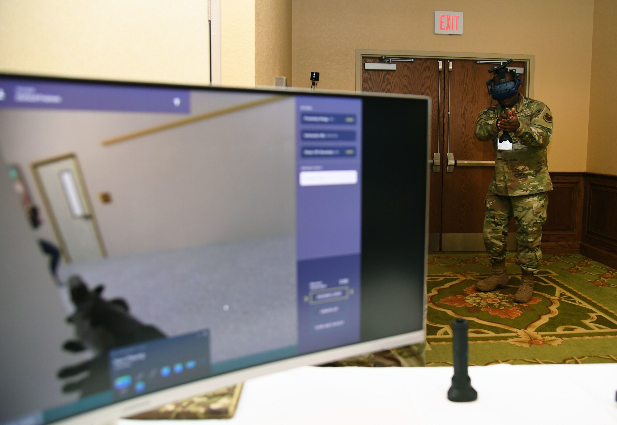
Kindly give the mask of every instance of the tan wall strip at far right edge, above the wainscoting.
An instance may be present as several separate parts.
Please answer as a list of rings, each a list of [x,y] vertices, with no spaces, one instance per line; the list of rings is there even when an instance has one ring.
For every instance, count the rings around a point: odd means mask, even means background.
[[[617,142],[614,126],[611,125],[615,122],[613,110],[617,98],[615,17],[615,0],[595,0],[587,171],[610,175],[617,175]]]

